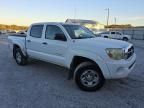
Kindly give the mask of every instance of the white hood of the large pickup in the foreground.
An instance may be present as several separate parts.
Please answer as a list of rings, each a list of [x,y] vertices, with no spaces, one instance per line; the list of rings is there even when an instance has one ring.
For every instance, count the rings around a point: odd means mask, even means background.
[[[128,42],[114,40],[114,39],[106,39],[101,37],[89,38],[89,39],[77,39],[75,40],[76,46],[87,47],[89,49],[93,48],[127,48],[132,45]]]

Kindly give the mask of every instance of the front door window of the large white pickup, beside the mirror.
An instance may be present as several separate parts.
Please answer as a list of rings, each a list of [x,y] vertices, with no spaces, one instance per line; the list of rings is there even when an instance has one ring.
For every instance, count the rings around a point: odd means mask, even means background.
[[[56,34],[64,34],[61,28],[56,25],[48,25],[46,28],[45,38],[55,40]]]

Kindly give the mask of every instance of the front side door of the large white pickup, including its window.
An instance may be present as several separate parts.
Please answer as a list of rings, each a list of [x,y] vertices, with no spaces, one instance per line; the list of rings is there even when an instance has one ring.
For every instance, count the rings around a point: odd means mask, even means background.
[[[43,53],[46,54],[47,61],[64,66],[68,44],[67,41],[55,40],[56,34],[64,34],[64,32],[57,25],[46,26]]]

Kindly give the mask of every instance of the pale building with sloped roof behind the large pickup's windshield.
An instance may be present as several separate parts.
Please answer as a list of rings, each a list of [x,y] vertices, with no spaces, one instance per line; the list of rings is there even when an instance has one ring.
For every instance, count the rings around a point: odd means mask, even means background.
[[[67,19],[66,23],[76,23],[89,28],[95,34],[104,31],[105,25],[93,20]]]

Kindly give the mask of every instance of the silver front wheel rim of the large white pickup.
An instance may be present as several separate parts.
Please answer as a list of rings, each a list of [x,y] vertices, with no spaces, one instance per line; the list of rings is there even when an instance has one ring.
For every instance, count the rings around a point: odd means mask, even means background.
[[[86,70],[82,73],[81,82],[86,87],[94,87],[99,82],[99,75],[95,70]]]

